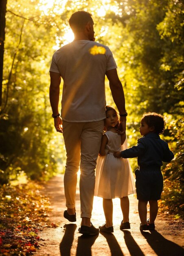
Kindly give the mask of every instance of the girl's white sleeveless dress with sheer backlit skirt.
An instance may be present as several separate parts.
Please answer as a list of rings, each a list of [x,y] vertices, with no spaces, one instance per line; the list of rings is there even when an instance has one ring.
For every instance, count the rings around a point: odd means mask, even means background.
[[[127,149],[127,138],[121,146],[121,137],[118,133],[107,131],[105,135],[109,141],[105,148],[105,156],[97,158],[94,195],[112,199],[136,193],[129,160],[113,155],[114,151]]]

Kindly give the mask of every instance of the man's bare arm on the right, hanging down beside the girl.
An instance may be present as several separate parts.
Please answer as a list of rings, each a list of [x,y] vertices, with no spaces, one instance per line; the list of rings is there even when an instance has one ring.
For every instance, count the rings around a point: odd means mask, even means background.
[[[116,107],[120,114],[125,114],[125,95],[123,91],[123,86],[121,81],[119,80],[117,70],[112,69],[106,72],[106,76],[109,80],[110,90],[112,93],[112,97]],[[120,117],[120,124],[121,124],[121,133],[126,131],[126,117]]]

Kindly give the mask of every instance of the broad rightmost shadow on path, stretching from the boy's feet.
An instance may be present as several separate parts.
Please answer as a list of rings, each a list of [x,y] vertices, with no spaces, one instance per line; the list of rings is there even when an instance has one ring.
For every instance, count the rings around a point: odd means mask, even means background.
[[[154,252],[159,256],[183,256],[184,249],[179,245],[167,240],[156,230],[144,232],[141,234],[146,238],[147,243],[151,246]]]

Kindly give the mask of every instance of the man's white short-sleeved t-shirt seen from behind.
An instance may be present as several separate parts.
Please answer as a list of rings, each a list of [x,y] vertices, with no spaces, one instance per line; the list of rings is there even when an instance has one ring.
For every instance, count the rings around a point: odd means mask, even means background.
[[[51,72],[64,80],[61,117],[68,122],[105,118],[105,73],[117,68],[109,47],[78,40],[53,54]]]

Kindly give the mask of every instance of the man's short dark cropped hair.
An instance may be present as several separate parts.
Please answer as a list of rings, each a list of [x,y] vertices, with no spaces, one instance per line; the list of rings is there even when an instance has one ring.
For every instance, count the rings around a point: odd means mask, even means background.
[[[69,19],[72,31],[79,31],[85,27],[88,22],[93,22],[92,14],[88,11],[76,11]]]

